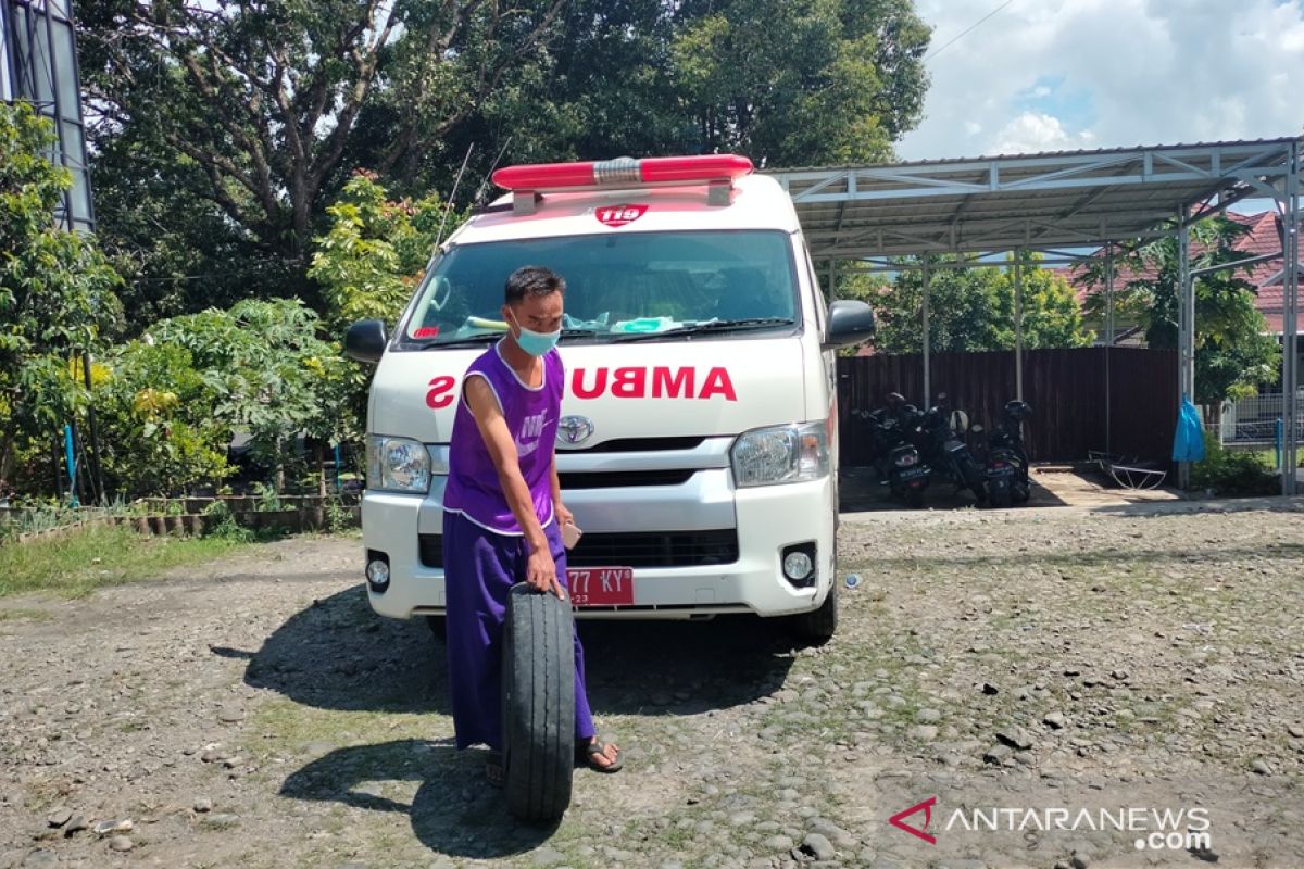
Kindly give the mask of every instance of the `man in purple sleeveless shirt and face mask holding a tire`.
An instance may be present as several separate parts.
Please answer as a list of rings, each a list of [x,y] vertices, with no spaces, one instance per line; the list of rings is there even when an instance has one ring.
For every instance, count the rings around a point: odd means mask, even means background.
[[[443,498],[449,685],[458,748],[489,745],[485,775],[502,784],[502,628],[507,591],[520,581],[566,599],[562,504],[554,443],[565,375],[561,336],[566,281],[526,266],[507,278],[507,335],[462,382]],[[575,636],[576,756],[604,773],[619,749],[593,731],[584,650]]]

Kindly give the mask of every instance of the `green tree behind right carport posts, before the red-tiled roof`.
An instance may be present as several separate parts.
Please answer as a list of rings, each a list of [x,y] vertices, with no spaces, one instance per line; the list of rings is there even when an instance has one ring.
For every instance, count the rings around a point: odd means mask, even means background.
[[[1267,323],[1254,307],[1254,287],[1244,275],[1249,266],[1235,267],[1249,254],[1234,248],[1247,227],[1226,218],[1208,218],[1191,225],[1191,268],[1228,266],[1194,280],[1196,294],[1196,395],[1197,404],[1219,405],[1258,392],[1260,384],[1275,383],[1281,348],[1267,335]],[[1178,272],[1180,257],[1174,233],[1124,250],[1115,262],[1136,278],[1115,291],[1119,315],[1133,318],[1145,330],[1149,347],[1178,348]],[[1102,287],[1104,263],[1084,270],[1080,283]],[[1088,297],[1090,310],[1102,314],[1104,293]]]

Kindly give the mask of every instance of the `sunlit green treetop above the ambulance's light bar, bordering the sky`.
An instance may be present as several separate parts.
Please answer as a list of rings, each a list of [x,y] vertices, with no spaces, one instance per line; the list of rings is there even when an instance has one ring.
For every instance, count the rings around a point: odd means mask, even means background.
[[[769,165],[885,162],[919,119],[928,27],[909,1],[686,3],[675,91],[704,150]]]

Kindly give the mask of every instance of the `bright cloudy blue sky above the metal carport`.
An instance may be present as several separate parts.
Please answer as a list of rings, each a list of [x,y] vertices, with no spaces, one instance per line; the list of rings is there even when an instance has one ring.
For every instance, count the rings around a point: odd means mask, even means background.
[[[1304,132],[1304,0],[915,0],[915,9],[934,27],[931,86],[923,120],[897,143],[904,160]]]

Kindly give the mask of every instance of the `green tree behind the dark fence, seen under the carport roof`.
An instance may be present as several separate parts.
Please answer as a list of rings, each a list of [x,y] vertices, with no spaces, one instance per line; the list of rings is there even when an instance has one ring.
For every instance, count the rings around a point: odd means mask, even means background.
[[[1073,287],[1041,268],[1041,257],[1025,254],[1022,274],[1024,347],[1085,347],[1093,340],[1082,326]],[[957,262],[935,258],[935,264]],[[1008,350],[1015,331],[1013,255],[999,264],[973,261],[968,268],[934,268],[928,274],[928,345],[934,352]],[[844,291],[838,291],[842,294]],[[863,293],[862,293],[863,296]],[[923,272],[897,274],[880,284],[872,300],[879,317],[874,345],[880,353],[918,353],[923,348]]]

